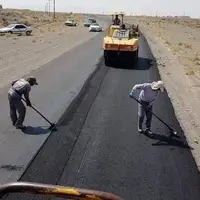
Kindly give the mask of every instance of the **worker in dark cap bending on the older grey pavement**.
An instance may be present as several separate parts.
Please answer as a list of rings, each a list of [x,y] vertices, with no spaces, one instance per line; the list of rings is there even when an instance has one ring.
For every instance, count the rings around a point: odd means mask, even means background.
[[[22,95],[24,95],[27,106],[31,106],[31,101],[29,99],[29,92],[31,91],[31,86],[38,85],[34,77],[29,77],[27,79],[19,79],[12,82],[12,87],[8,91],[8,100],[10,105],[10,118],[13,125],[17,129],[23,129],[23,125],[26,107],[22,102]],[[17,117],[18,112],[18,117]]]

